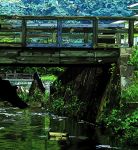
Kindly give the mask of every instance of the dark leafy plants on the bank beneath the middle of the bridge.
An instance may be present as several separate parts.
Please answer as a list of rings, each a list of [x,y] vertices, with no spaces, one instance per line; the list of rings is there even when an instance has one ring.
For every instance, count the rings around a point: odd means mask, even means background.
[[[50,95],[49,111],[70,117],[81,118],[85,109],[84,102],[80,101],[73,90],[72,84],[62,86],[60,81],[54,82],[54,93]]]

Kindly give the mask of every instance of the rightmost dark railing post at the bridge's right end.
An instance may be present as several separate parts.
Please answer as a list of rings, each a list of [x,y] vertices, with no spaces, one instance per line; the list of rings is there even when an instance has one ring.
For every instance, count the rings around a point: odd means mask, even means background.
[[[134,20],[129,20],[129,28],[128,28],[128,44],[129,47],[134,45]]]

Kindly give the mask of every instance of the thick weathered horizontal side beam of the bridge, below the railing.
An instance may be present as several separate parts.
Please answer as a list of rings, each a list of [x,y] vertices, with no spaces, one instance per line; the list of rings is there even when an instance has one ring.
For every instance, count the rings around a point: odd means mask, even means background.
[[[0,64],[101,64],[116,62],[120,56],[119,48],[1,48]]]

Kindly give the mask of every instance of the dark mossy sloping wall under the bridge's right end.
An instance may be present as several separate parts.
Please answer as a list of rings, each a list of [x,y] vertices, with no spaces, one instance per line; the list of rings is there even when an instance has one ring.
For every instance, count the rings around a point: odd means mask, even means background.
[[[120,107],[121,85],[120,85],[120,69],[119,63],[116,63],[111,68],[111,77],[106,85],[102,95],[96,121],[100,119],[103,113],[109,114],[114,108]]]

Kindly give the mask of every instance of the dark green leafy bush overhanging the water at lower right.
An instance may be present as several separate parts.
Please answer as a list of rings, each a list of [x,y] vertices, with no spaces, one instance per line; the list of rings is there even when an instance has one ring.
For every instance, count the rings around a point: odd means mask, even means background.
[[[111,113],[101,116],[102,123],[111,128],[113,134],[119,137],[122,144],[138,144],[138,109],[132,113],[127,113],[125,106],[120,109],[113,109]]]

